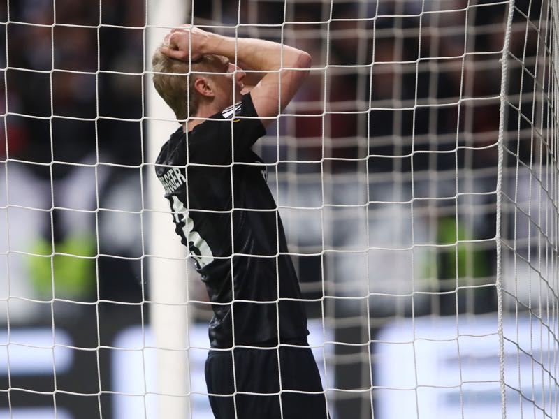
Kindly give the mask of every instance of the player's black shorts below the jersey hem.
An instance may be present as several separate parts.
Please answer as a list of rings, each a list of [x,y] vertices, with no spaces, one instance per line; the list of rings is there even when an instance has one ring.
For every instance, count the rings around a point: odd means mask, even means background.
[[[235,348],[235,385],[231,351],[210,351],[205,381],[216,419],[328,419],[326,397],[317,363],[307,339],[285,341],[280,346],[282,393],[279,393],[277,349]],[[291,390],[291,391],[290,391]],[[301,392],[293,392],[293,390]],[[259,393],[258,395],[238,392]],[[307,392],[307,393],[303,393]],[[308,392],[318,392],[316,394]],[[224,396],[218,396],[224,395]],[[280,406],[281,398],[281,406]],[[235,415],[236,411],[236,415]]]

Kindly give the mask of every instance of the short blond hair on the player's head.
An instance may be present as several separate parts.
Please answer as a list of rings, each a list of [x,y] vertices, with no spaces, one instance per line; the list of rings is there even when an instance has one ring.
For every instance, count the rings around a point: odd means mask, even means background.
[[[179,121],[196,115],[201,98],[194,88],[197,78],[193,73],[190,75],[187,73],[189,71],[210,71],[217,66],[217,61],[221,60],[216,55],[203,55],[190,66],[189,62],[166,56],[161,52],[161,47],[154,52],[152,67],[156,74],[153,75],[153,84],[159,96],[175,112]]]

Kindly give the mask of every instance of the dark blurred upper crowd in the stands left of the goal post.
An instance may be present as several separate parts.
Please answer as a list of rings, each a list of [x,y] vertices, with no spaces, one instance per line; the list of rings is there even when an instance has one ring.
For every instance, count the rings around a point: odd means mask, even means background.
[[[4,3],[3,22],[6,12]],[[57,26],[52,27],[55,15]],[[98,30],[99,22],[138,29]],[[10,24],[3,31],[8,54],[2,54],[4,65],[8,57],[10,66],[8,108],[10,114],[31,116],[8,117],[10,158],[80,163],[99,152],[106,155],[103,161],[138,165],[137,124],[110,118],[142,117],[138,74],[143,71],[144,24],[142,2],[137,0],[10,2]],[[52,132],[44,119],[51,115],[56,115]],[[57,164],[53,174],[61,177],[68,170]]]

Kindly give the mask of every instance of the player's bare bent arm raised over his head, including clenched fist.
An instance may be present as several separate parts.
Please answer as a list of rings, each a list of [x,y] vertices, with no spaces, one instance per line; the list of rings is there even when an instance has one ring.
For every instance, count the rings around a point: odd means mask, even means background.
[[[266,126],[295,96],[309,74],[311,57],[288,45],[250,38],[230,38],[185,25],[166,37],[162,52],[175,59],[194,61],[202,54],[217,54],[247,70],[266,73],[252,89],[252,102]]]

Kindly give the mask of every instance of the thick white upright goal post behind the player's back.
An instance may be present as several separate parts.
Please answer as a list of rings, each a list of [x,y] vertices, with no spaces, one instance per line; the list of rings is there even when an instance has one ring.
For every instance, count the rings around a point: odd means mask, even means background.
[[[151,69],[151,55],[161,45],[170,28],[179,27],[189,16],[189,4],[177,0],[148,1],[146,24],[145,68]],[[159,29],[159,30],[158,30]],[[155,91],[152,74],[145,78],[147,91],[147,162],[154,162],[161,149],[161,140],[170,132],[175,116]],[[149,208],[168,214],[166,200],[161,199],[161,183],[151,172],[146,173]],[[186,252],[177,246],[168,217],[155,216],[148,223],[150,242],[147,249],[152,255],[149,263],[150,278],[150,328],[154,335],[157,358],[158,418],[190,418],[189,406],[189,357],[188,357],[188,277]],[[173,260],[173,258],[175,260]]]

